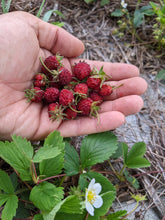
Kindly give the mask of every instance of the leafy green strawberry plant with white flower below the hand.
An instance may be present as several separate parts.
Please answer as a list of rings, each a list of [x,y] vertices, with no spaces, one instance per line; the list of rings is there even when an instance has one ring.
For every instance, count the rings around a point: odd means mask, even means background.
[[[13,169],[9,174],[0,170],[1,219],[32,215],[36,220],[112,219],[107,213],[116,197],[115,186],[94,166],[117,156],[118,146],[112,132],[84,137],[79,153],[71,139],[64,139],[58,131],[40,146],[16,135],[10,142],[1,141],[0,157]],[[124,167],[149,166],[142,158],[143,144],[135,144],[129,152],[123,144],[122,149]],[[126,212],[114,215],[120,219]]]

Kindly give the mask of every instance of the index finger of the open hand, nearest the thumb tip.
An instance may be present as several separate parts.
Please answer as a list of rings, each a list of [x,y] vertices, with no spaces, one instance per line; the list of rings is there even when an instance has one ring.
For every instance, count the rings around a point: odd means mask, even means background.
[[[70,63],[73,66],[79,62],[80,59],[70,59]],[[122,80],[135,76],[139,76],[139,69],[131,64],[126,63],[109,63],[101,61],[86,60],[91,68],[96,67],[100,69],[103,66],[104,72],[112,77],[112,80]]]

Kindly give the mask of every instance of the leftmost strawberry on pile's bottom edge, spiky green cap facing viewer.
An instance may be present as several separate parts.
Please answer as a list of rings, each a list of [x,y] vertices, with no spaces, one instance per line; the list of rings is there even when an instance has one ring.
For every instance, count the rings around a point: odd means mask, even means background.
[[[65,114],[63,113],[63,109],[61,108],[59,103],[50,103],[48,105],[48,115],[49,118],[54,121],[63,119]]]

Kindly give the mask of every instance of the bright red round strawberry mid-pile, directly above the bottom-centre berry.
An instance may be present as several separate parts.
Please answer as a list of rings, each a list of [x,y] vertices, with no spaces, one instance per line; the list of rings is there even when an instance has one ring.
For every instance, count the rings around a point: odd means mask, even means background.
[[[62,89],[59,95],[59,103],[62,106],[68,106],[74,101],[73,93],[68,89]]]

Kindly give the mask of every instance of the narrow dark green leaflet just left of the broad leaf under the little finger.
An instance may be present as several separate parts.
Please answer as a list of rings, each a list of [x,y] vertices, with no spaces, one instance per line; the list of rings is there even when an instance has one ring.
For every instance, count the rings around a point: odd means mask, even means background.
[[[67,142],[65,145],[64,169],[68,176],[76,175],[80,171],[79,155],[75,148]]]

